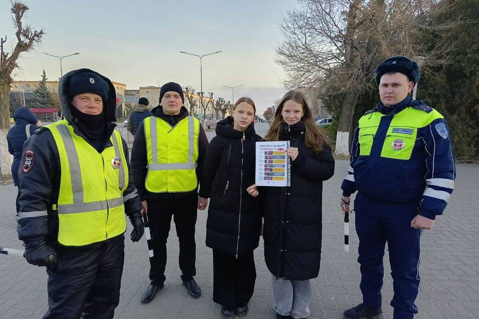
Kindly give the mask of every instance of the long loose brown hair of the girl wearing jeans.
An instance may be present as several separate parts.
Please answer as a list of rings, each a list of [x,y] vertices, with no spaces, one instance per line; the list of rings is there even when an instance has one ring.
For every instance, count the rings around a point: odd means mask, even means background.
[[[281,113],[283,111],[283,105],[287,100],[293,100],[294,102],[300,104],[303,107],[304,115],[302,121],[304,122],[305,126],[304,142],[306,144],[306,147],[313,150],[314,153],[321,152],[325,146],[330,148],[326,135],[321,132],[314,123],[311,109],[309,108],[308,102],[306,101],[304,94],[299,91],[293,90],[286,93],[279,102],[278,108],[274,113],[274,117],[269,124],[269,130],[264,136],[264,140],[268,142],[279,140],[279,135],[281,133],[281,123],[285,123]]]

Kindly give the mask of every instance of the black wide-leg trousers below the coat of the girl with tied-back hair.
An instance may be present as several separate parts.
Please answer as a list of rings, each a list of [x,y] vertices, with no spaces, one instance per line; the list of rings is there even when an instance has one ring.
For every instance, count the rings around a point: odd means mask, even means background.
[[[213,301],[228,309],[246,305],[254,291],[253,252],[238,256],[213,250]]]

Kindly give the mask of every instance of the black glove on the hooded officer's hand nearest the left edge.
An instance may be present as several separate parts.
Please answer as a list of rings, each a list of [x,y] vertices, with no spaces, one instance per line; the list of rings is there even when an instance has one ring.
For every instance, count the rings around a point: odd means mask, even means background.
[[[35,266],[55,266],[57,264],[56,252],[48,244],[46,238],[35,237],[24,241],[26,261]]]

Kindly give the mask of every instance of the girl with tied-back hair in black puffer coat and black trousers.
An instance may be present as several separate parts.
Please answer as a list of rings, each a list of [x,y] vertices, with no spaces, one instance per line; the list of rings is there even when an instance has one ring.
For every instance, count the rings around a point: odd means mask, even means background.
[[[253,250],[261,229],[260,205],[246,188],[254,184],[254,102],[240,98],[233,116],[217,123],[205,157],[210,207],[206,245],[213,249],[213,301],[224,318],[244,317],[256,280]]]

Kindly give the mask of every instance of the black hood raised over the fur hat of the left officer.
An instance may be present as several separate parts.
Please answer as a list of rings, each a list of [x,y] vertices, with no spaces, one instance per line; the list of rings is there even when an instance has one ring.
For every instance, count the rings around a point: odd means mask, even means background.
[[[115,122],[116,121],[116,117],[115,117],[115,110],[116,110],[116,91],[115,91],[115,87],[113,86],[113,84],[111,83],[111,81],[107,77],[101,75],[98,72],[90,70],[90,69],[73,70],[73,71],[70,71],[70,72],[66,73],[61,78],[60,84],[58,85],[58,94],[60,96],[61,109],[63,111],[63,116],[65,117],[65,119],[69,123],[73,122],[74,119],[73,119],[73,116],[71,114],[70,108],[72,108],[74,106],[71,104],[70,101],[68,101],[68,92],[67,92],[68,83],[70,81],[70,78],[73,75],[78,74],[78,73],[84,73],[84,72],[95,73],[98,76],[102,77],[108,83],[108,86],[109,86],[108,100],[103,102],[103,112],[105,112],[105,121],[106,122]]]

